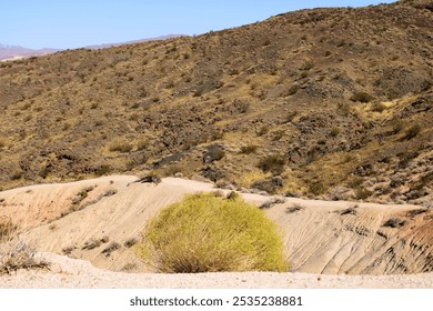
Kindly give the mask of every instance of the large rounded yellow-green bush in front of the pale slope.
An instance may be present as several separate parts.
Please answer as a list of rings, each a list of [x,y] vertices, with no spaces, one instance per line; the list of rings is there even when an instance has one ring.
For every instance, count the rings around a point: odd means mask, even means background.
[[[147,225],[141,255],[160,272],[286,271],[275,223],[240,198],[192,194]]]

